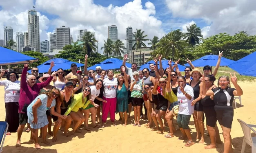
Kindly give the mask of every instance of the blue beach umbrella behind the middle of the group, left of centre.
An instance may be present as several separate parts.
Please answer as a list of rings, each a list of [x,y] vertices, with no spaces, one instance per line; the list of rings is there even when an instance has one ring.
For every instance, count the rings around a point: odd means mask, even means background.
[[[105,61],[102,61],[94,66],[87,68],[87,70],[96,70],[97,66],[100,66],[102,70],[119,69],[122,66],[122,60],[117,58],[109,58]],[[125,66],[131,68],[130,63],[125,63]]]

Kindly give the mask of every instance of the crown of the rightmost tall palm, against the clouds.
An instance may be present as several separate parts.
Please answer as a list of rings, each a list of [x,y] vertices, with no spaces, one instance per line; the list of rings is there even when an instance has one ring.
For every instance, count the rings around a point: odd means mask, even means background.
[[[184,34],[183,40],[186,39],[186,42],[194,47],[196,44],[199,44],[199,37],[203,38],[201,29],[197,27],[196,24],[192,24],[187,27],[187,33]]]

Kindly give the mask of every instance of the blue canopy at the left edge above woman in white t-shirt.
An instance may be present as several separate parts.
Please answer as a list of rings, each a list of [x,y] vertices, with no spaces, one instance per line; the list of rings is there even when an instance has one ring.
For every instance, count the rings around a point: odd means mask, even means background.
[[[0,65],[12,65],[12,64],[27,64],[38,61],[34,57],[24,55],[20,52],[10,50],[4,47],[0,47]]]

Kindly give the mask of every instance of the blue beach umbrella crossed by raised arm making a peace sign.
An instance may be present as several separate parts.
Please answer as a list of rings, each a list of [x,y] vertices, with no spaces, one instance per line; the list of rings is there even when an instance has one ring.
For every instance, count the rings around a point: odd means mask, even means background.
[[[216,66],[218,61],[218,55],[206,55],[204,57],[201,57],[200,59],[197,59],[195,61],[192,61],[191,63],[195,67],[203,67],[203,66]],[[226,59],[225,57],[221,57],[220,66],[228,66],[229,64],[233,63],[234,61],[231,59]],[[190,66],[188,63],[184,64],[185,66]]]

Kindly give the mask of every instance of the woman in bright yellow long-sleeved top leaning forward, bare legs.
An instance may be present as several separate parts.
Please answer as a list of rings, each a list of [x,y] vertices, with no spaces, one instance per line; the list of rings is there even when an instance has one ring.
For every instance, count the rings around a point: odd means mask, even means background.
[[[72,98],[72,102],[65,113],[65,115],[70,114],[74,122],[73,131],[71,132],[72,135],[76,135],[75,132],[81,133],[79,127],[85,121],[85,117],[79,109],[85,109],[89,103],[91,103],[91,89],[89,86],[85,87],[81,93],[75,94]],[[67,127],[70,127],[70,123]]]

